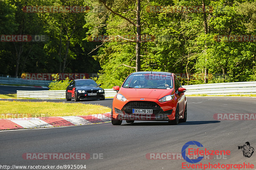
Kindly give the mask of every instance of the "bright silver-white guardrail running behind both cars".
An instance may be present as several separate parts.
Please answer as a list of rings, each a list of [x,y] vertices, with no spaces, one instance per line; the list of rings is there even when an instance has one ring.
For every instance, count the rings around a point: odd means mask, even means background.
[[[187,89],[185,94],[206,94],[206,95],[226,95],[226,94],[256,94],[256,81],[215,83],[202,85],[183,85]],[[104,89],[105,97],[114,97],[116,91]],[[61,99],[65,98],[65,90],[41,90],[41,91],[21,91],[17,90],[17,97],[37,98],[37,99]]]

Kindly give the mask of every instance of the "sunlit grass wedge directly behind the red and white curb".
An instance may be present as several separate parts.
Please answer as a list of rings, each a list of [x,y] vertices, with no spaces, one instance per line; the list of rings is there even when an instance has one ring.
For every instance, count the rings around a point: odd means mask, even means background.
[[[111,108],[82,103],[0,101],[0,118],[94,115]]]

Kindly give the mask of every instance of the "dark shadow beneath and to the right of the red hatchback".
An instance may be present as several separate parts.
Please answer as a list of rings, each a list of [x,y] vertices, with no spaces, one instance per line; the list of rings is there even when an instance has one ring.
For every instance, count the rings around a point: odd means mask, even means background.
[[[199,125],[199,124],[210,124],[210,123],[219,123],[220,121],[187,121],[180,122],[178,125]],[[135,122],[123,124],[121,126],[164,126],[170,125],[168,122]],[[175,126],[175,125],[172,125]]]

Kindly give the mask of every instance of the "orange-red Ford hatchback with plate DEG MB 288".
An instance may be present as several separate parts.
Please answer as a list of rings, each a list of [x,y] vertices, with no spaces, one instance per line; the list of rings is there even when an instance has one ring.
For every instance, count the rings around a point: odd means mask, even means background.
[[[140,71],[130,74],[113,99],[111,122],[122,120],[168,121],[178,124],[187,121],[187,99],[176,75],[169,72]]]

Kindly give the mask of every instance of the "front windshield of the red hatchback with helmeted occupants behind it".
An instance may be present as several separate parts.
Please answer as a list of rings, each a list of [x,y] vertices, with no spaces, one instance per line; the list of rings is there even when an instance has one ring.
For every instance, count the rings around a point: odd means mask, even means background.
[[[164,74],[133,74],[124,82],[123,87],[171,89],[172,76]]]

